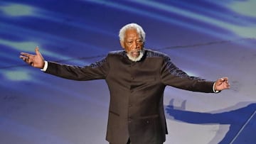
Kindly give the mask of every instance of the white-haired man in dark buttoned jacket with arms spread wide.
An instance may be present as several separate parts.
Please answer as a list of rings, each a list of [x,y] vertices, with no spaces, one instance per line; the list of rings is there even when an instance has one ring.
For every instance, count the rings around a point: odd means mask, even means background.
[[[21,59],[46,73],[74,80],[105,79],[110,89],[107,140],[110,144],[159,144],[166,140],[163,96],[167,85],[194,92],[217,93],[228,89],[228,78],[216,82],[190,77],[167,55],[144,48],[141,26],[129,23],[119,31],[124,50],[110,52],[99,62],[76,67],[46,62],[21,52]]]

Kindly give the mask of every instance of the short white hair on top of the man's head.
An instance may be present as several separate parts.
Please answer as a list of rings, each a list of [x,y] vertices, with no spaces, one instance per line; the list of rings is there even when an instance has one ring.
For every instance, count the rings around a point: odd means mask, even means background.
[[[137,30],[137,33],[139,33],[139,35],[141,35],[142,37],[142,41],[145,42],[145,38],[146,38],[146,33],[144,32],[142,26],[139,26],[137,23],[129,23],[125,26],[123,26],[120,31],[119,31],[119,40],[124,41],[124,37],[125,37],[125,32],[130,29],[130,28],[134,28]]]

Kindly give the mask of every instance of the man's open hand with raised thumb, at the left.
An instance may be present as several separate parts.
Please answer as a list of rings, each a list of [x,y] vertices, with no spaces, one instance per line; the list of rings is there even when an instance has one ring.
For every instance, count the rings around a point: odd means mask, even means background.
[[[44,67],[44,59],[41,55],[41,52],[39,52],[39,48],[36,47],[35,49],[36,55],[32,55],[26,52],[21,52],[20,58],[26,62],[28,65],[31,65],[32,67],[41,68]]]

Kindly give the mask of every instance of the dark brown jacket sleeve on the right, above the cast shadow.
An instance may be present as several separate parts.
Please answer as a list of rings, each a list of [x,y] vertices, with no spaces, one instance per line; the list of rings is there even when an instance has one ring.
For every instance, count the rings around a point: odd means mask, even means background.
[[[200,77],[191,77],[186,72],[178,69],[169,57],[164,57],[161,67],[161,82],[165,85],[185,89],[193,92],[213,92],[214,82],[206,81]]]

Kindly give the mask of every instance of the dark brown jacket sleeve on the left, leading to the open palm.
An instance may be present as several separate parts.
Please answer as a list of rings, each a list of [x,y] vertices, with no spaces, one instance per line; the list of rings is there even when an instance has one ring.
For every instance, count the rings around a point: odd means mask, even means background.
[[[86,81],[92,79],[105,79],[105,77],[107,77],[108,70],[109,65],[107,57],[105,57],[104,59],[85,67],[48,62],[46,73],[53,74],[57,77],[63,77],[65,79]]]

